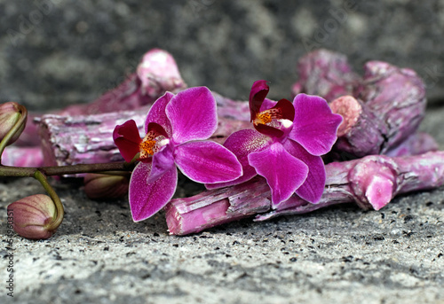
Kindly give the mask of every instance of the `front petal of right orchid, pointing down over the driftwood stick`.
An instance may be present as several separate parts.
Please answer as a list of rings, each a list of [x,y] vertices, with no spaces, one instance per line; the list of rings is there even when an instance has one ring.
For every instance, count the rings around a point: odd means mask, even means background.
[[[289,199],[305,182],[308,174],[305,163],[285,151],[280,143],[274,143],[260,152],[252,152],[248,159],[258,175],[266,178],[266,183],[272,191],[274,206]]]

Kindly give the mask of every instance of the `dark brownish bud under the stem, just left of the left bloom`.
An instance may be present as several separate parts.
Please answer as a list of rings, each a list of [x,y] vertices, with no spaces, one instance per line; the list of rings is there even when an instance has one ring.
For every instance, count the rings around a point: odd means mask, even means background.
[[[128,193],[130,180],[126,175],[87,174],[84,191],[90,199],[117,199]]]

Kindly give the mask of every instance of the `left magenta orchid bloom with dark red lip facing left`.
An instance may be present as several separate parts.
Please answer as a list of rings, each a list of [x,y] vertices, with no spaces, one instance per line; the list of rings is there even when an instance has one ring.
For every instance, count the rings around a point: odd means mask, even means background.
[[[222,183],[242,175],[233,152],[205,141],[216,130],[216,100],[205,87],[173,95],[165,93],[147,114],[142,139],[134,121],[115,127],[113,138],[123,159],[139,154],[130,181],[130,206],[135,222],[161,210],[172,198],[178,171],[198,183]]]

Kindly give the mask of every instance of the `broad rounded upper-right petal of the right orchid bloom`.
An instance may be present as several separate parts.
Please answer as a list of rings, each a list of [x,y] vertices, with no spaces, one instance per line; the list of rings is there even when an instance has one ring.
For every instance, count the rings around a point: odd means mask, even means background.
[[[329,152],[337,140],[342,116],[332,113],[325,99],[317,96],[298,94],[293,104],[295,123],[289,138],[313,155]]]

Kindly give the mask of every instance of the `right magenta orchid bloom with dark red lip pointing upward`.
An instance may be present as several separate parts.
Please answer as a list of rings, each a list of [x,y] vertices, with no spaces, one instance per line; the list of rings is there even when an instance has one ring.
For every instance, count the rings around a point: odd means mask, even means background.
[[[286,99],[276,103],[266,99],[268,90],[266,81],[254,82],[250,115],[255,129],[234,132],[224,144],[241,162],[243,175],[207,187],[234,185],[262,175],[270,186],[274,208],[295,192],[316,203],[326,179],[321,155],[335,144],[342,117],[332,113],[321,97],[298,94],[293,104]]]

